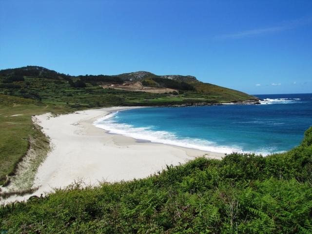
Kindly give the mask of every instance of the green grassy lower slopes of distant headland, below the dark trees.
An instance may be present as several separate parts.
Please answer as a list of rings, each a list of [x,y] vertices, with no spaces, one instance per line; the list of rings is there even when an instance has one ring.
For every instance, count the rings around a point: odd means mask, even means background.
[[[1,80],[4,82],[5,79],[5,77],[0,77],[0,82]],[[209,103],[244,101],[252,98],[235,90],[204,83],[196,83],[194,85],[196,91],[184,91],[178,97],[168,96],[168,94],[103,89],[91,83],[87,83],[85,88],[76,88],[61,78],[24,77],[23,81],[14,81],[12,84],[17,85],[17,88],[7,88],[0,85],[0,94],[35,98],[44,103],[67,104],[73,108],[131,105],[132,103],[138,103],[138,105],[173,105],[194,101]]]

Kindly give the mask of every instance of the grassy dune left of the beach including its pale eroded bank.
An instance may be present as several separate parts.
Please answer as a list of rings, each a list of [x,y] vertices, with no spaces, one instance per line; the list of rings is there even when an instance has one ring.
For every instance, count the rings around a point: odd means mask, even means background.
[[[18,163],[31,149],[35,153],[33,165],[20,185],[22,190],[29,189],[37,167],[46,156],[49,141],[33,124],[32,116],[74,110],[66,105],[44,104],[32,98],[0,95],[0,185],[10,183],[11,177],[16,176]]]

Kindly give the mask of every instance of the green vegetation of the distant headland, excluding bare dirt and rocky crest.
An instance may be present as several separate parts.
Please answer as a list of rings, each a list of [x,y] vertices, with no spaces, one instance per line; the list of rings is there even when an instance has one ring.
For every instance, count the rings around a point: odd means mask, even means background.
[[[158,78],[147,73],[145,78]],[[14,77],[24,77],[23,81],[14,81]],[[104,78],[105,77],[105,78]],[[188,77],[178,76],[181,80]],[[103,79],[104,78],[104,79]],[[128,79],[130,74],[116,76],[78,76],[71,77],[59,74],[42,67],[29,66],[0,71],[0,94],[10,96],[35,98],[45,103],[68,104],[73,108],[87,108],[107,105],[174,105],[194,102],[218,103],[225,101],[247,100],[253,97],[231,89],[205,84],[202,82],[189,82],[195,86],[194,91],[184,91],[183,94],[171,97],[167,94],[149,94],[143,92],[130,92],[122,90],[109,90],[98,87],[97,82],[106,79]],[[82,79],[87,87],[76,88],[69,81],[76,82]],[[194,78],[195,79],[195,78]],[[10,81],[9,81],[10,80]],[[169,79],[163,79],[170,82]],[[193,80],[193,79],[191,79]],[[166,82],[165,82],[166,83]],[[169,84],[168,83],[168,84]],[[172,85],[172,84],[171,84]],[[189,89],[192,90],[192,89]],[[182,93],[182,92],[181,92]]]

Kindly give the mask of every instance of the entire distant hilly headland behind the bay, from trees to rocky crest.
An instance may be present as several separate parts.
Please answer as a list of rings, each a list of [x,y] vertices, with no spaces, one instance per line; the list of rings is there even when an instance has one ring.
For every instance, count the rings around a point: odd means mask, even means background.
[[[138,89],[133,88],[136,82],[139,82]],[[1,70],[0,94],[72,108],[257,100],[236,90],[200,82],[192,76],[156,76],[149,72],[70,76],[38,66]]]

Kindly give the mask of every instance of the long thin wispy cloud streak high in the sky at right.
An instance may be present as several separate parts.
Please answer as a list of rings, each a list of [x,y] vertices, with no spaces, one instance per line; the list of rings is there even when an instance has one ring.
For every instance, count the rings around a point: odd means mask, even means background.
[[[252,36],[261,35],[261,34],[276,33],[276,32],[281,32],[285,30],[290,30],[290,29],[304,26],[310,23],[312,23],[312,18],[289,20],[289,21],[284,21],[280,23],[279,26],[255,28],[255,29],[245,30],[245,31],[236,32],[232,34],[219,35],[219,36],[216,36],[215,38],[216,39],[241,39],[241,38],[252,37]]]

